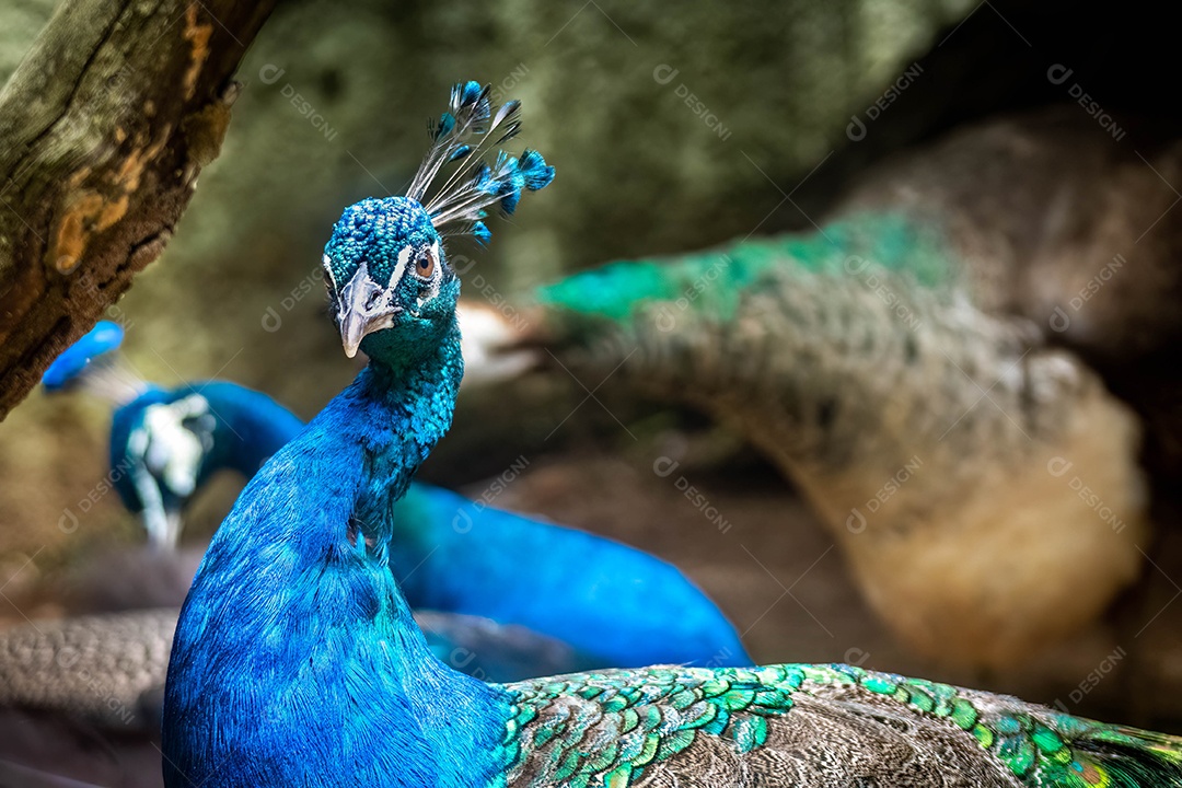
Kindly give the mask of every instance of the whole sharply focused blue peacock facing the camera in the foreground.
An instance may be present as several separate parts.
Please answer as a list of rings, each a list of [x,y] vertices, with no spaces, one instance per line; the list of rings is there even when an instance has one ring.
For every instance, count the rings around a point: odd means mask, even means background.
[[[860,667],[488,684],[439,663],[387,560],[390,506],[463,373],[441,230],[487,240],[479,211],[512,211],[553,176],[532,150],[480,163],[517,131],[518,104],[488,93],[456,85],[408,194],[350,206],[332,230],[333,317],[369,365],[251,480],[206,553],[169,662],[167,786],[1182,786],[1182,740]]]

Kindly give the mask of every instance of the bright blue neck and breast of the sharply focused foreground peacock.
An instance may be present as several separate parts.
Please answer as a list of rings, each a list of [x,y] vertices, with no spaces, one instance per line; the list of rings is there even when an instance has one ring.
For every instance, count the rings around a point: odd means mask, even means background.
[[[498,770],[505,696],[431,656],[378,516],[447,430],[461,375],[454,326],[426,357],[371,363],[242,491],[173,645],[170,787],[475,786]]]

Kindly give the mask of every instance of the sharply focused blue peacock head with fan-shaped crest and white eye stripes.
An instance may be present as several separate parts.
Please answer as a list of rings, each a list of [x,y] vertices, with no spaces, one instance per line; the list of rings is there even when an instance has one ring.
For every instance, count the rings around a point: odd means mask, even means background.
[[[350,358],[358,347],[381,358],[450,330],[460,281],[447,261],[443,228],[486,243],[488,209],[512,214],[525,191],[554,178],[538,151],[515,157],[499,150],[520,129],[521,104],[494,108],[491,90],[475,82],[455,85],[448,111],[429,126],[434,144],[405,196],[362,200],[333,227],[324,272]]]

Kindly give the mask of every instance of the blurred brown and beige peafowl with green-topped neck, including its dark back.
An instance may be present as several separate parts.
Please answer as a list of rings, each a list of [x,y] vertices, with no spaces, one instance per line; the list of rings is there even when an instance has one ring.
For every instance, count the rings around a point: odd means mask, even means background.
[[[513,346],[734,425],[913,650],[1022,664],[1141,573],[1125,395],[1161,391],[1147,369],[1176,377],[1162,357],[1182,339],[1182,239],[1154,226],[1174,200],[1154,168],[1176,154],[1147,148],[1147,167],[1077,110],[889,162],[810,232],[541,286]]]

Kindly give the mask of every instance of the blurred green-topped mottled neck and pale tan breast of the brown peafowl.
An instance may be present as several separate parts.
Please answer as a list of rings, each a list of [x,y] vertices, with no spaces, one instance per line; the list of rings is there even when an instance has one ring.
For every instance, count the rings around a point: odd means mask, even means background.
[[[541,287],[524,344],[735,425],[909,645],[1009,665],[1137,577],[1139,426],[1077,354],[986,308],[965,262],[940,227],[862,210]]]

